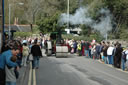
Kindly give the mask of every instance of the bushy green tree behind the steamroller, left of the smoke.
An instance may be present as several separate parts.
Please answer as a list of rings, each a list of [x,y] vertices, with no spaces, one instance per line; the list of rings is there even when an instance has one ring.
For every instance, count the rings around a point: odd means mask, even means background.
[[[58,19],[60,17],[60,12],[55,13],[53,16],[49,16],[41,19],[37,22],[38,28],[43,33],[49,33],[54,31],[63,30],[63,26],[59,26]]]

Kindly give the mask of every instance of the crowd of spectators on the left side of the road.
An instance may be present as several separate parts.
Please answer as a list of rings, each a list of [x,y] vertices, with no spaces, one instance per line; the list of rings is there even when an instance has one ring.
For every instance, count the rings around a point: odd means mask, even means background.
[[[30,60],[30,55],[32,60]],[[19,69],[32,62],[32,68],[39,68],[42,57],[38,38],[32,42],[26,39],[6,40],[0,53],[0,85],[16,85]]]

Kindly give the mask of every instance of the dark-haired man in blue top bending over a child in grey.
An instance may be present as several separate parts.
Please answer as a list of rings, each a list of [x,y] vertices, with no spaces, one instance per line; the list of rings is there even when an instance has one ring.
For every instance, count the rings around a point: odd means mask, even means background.
[[[8,50],[4,51],[0,55],[0,85],[5,85],[5,66],[8,65],[11,67],[16,67],[17,64],[12,62],[10,59],[12,56],[17,56],[19,53],[19,44],[16,40],[10,40],[6,45]]]

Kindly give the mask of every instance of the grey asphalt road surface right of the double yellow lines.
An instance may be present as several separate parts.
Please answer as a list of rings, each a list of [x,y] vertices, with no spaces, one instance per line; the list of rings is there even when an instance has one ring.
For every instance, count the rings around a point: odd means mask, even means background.
[[[36,85],[128,85],[128,73],[85,57],[44,57]]]

